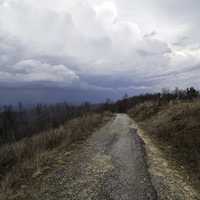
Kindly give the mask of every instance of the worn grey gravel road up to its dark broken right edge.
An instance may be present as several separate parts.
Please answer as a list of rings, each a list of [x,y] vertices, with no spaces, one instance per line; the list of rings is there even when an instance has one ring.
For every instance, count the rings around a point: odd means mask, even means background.
[[[157,199],[144,159],[143,143],[131,119],[118,114],[72,152],[29,199]]]

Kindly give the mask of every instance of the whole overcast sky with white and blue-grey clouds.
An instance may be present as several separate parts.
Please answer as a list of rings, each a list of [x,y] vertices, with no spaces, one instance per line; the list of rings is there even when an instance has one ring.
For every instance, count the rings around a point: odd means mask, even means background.
[[[199,88],[199,10],[199,0],[0,0],[4,103],[15,88],[16,101],[49,88],[79,101]]]

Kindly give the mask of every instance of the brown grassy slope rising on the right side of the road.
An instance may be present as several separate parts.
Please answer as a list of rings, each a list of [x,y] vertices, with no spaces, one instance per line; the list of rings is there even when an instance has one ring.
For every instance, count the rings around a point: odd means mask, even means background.
[[[129,110],[141,127],[162,144],[168,155],[200,183],[200,101],[164,106],[147,102]],[[170,147],[170,148],[169,148]]]

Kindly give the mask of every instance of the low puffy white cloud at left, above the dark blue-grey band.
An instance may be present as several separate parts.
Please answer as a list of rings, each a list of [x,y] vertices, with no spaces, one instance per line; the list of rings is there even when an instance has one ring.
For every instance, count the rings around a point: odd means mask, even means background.
[[[64,65],[50,65],[37,60],[23,60],[0,74],[1,81],[55,82],[65,86],[79,81],[79,77]]]

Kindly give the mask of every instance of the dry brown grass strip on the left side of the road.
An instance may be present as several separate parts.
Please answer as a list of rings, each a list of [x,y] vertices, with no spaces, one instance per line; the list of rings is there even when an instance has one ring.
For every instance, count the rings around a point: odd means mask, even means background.
[[[58,129],[3,146],[0,149],[0,199],[13,193],[18,186],[30,184],[41,168],[50,167],[52,163],[47,154],[83,140],[110,117],[110,113],[88,114]]]

